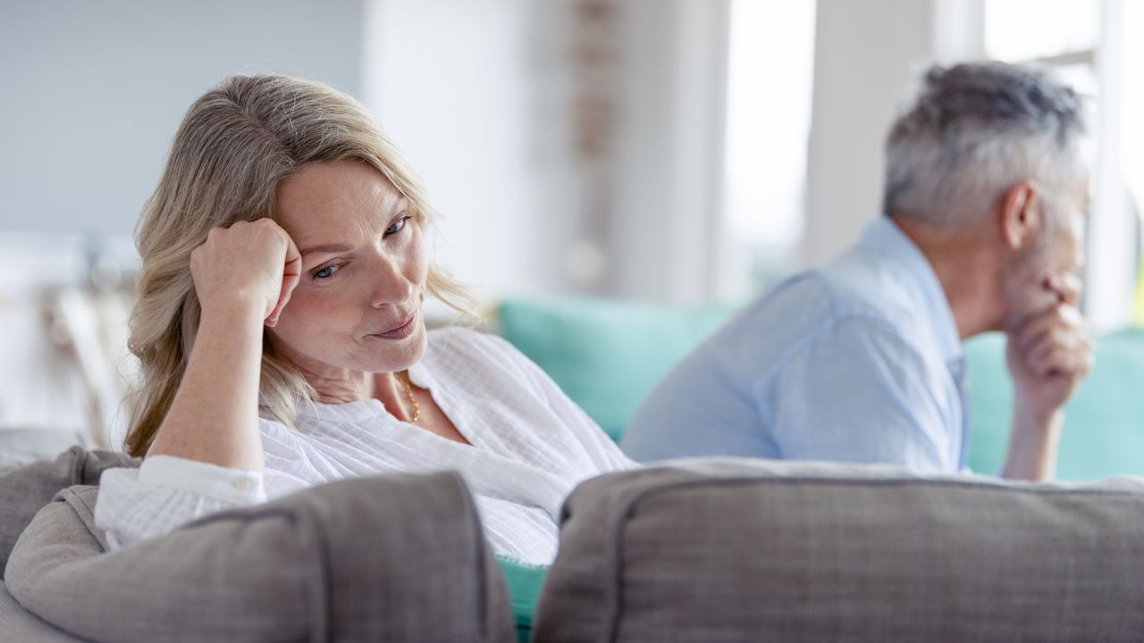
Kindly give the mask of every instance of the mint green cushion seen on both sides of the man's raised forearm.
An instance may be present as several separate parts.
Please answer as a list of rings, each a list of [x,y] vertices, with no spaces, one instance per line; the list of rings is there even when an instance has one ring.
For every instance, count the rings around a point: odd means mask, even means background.
[[[1093,481],[1144,475],[1144,328],[1095,340],[1096,365],[1065,406],[1057,477]],[[1004,336],[991,333],[966,343],[972,437],[969,466],[1001,470],[1012,419],[1012,382]]]

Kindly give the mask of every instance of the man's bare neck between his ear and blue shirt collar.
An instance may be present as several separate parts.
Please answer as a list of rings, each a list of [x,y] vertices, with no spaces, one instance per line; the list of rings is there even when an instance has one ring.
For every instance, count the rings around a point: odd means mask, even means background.
[[[938,231],[907,217],[892,217],[917,246],[945,291],[958,335],[967,340],[998,326],[993,291],[996,288],[993,253],[972,229]]]

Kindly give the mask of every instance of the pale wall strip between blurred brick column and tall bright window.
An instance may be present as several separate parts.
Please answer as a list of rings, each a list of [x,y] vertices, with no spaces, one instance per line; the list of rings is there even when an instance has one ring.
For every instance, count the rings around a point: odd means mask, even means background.
[[[611,294],[715,292],[726,105],[726,0],[626,0]]]

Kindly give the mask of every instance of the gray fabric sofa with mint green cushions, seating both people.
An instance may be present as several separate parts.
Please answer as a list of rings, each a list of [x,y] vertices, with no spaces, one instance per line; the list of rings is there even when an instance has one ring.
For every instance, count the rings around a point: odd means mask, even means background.
[[[732,307],[529,300],[506,302],[498,325],[618,438],[659,376],[730,315]],[[1144,473],[1131,427],[1139,416],[1131,384],[1144,381],[1137,342],[1136,331],[1097,341],[1097,367],[1067,410],[1066,447],[1068,439],[1087,445],[1063,450],[1063,477],[1072,482],[680,460],[578,487],[551,567],[494,561],[472,529],[463,483],[448,474],[308,490],[200,521],[141,554],[96,556],[105,543],[85,508],[96,493],[93,475],[118,465],[108,460],[114,455],[73,450],[32,469],[48,481],[39,486],[14,484],[29,468],[0,474],[0,556],[13,553],[6,573],[15,574],[0,593],[0,632],[27,641],[191,640],[207,620],[230,619],[238,625],[209,630],[212,638],[1144,641],[1144,482],[1113,477]],[[995,468],[1003,450],[1011,392],[1001,346],[985,338],[967,349],[976,470]],[[370,538],[358,538],[364,525]],[[70,535],[61,542],[61,534]],[[384,555],[358,564],[379,541],[388,543]],[[215,556],[231,564],[206,573],[194,563]],[[168,558],[182,566],[164,566]],[[331,566],[294,569],[311,558]],[[248,561],[283,571],[249,580],[240,573]],[[336,573],[332,562],[343,563]],[[84,582],[95,593],[93,579],[156,566],[166,575],[130,595],[148,608],[133,610],[142,614],[128,624],[136,629],[106,619],[122,597],[98,609],[84,596],[59,600],[73,587],[86,596]],[[186,581],[246,590],[192,604],[186,616],[185,596],[173,589]],[[279,592],[293,601],[288,609],[245,604]],[[355,606],[313,609],[343,603]],[[164,612],[170,605],[178,609]],[[279,612],[288,618],[273,627],[283,629],[259,629]],[[156,625],[149,614],[164,618]]]

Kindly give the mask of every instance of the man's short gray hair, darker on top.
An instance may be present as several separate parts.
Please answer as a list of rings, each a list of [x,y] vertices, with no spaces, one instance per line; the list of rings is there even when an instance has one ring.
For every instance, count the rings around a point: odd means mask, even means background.
[[[937,229],[977,221],[1018,181],[1078,176],[1083,103],[1048,72],[998,62],[935,65],[885,142],[885,215]]]

